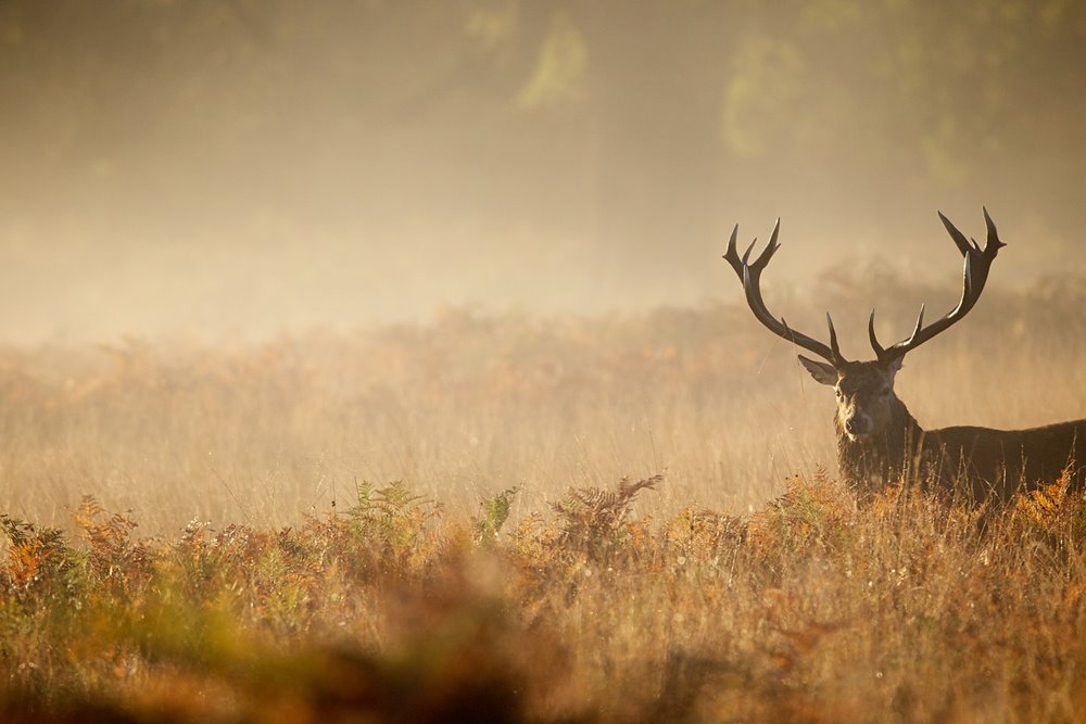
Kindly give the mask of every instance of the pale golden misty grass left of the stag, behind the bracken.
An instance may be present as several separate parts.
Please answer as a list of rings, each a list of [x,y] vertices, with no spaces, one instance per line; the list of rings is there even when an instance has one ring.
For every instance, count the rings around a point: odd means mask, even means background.
[[[9,350],[0,504],[64,524],[92,492],[161,532],[296,522],[363,481],[402,480],[462,511],[518,486],[521,512],[569,484],[668,470],[681,504],[745,510],[803,469],[804,444],[824,446],[821,419],[792,432],[779,399],[797,378],[759,374],[772,347],[757,332],[722,308],[451,314],[233,351]]]

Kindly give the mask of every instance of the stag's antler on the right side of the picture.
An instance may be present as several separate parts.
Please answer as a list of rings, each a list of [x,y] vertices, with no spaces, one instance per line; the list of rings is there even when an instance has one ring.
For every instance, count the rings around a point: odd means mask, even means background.
[[[974,304],[976,304],[976,301],[981,297],[981,292],[984,290],[984,282],[988,280],[988,269],[992,267],[992,261],[996,258],[996,254],[999,253],[999,249],[1007,245],[999,241],[999,234],[996,232],[996,225],[993,223],[992,217],[988,216],[988,209],[983,208],[983,211],[984,224],[987,226],[988,230],[988,239],[985,241],[983,250],[976,241],[965,239],[965,234],[959,231],[955,225],[950,223],[950,219],[943,215],[943,212],[939,212],[939,218],[943,219],[943,226],[947,228],[947,231],[950,233],[950,238],[954,239],[954,243],[958,246],[958,251],[960,251],[962,256],[965,257],[965,270],[962,276],[961,301],[958,302],[958,306],[948,312],[938,321],[935,321],[927,327],[924,327],[924,307],[921,306],[920,316],[917,318],[917,327],[912,330],[912,334],[909,335],[909,339],[902,340],[897,344],[893,344],[887,348],[883,348],[883,346],[879,344],[879,340],[875,338],[875,310],[871,310],[871,317],[868,320],[868,336],[871,338],[871,347],[875,351],[875,356],[879,357],[879,361],[886,365],[896,359],[900,359],[907,353],[915,350],[939,332],[949,329],[955,322],[959,321],[962,317],[969,314],[969,310],[973,308]]]

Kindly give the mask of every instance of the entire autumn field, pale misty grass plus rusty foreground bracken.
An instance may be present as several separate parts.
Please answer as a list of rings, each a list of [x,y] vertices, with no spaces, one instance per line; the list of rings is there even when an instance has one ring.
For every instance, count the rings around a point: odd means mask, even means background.
[[[867,356],[948,290],[819,303]],[[990,289],[900,397],[1086,416],[1084,309]],[[8,347],[0,401],[8,721],[1086,720],[1083,496],[857,508],[740,305]]]

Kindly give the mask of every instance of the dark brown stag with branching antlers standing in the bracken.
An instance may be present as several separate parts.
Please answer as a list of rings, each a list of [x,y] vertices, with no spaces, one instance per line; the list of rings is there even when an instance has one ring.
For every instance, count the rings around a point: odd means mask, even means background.
[[[829,315],[828,346],[792,330],[783,318],[778,320],[766,308],[759,282],[761,271],[779,247],[780,221],[766,251],[754,262],[749,262],[754,244],[742,258],[736,252],[736,227],[724,258],[743,281],[755,317],[773,333],[826,360],[799,356],[818,382],[833,386],[836,392],[837,465],[845,481],[861,497],[904,479],[950,488],[977,501],[1007,500],[1018,491],[1052,483],[1065,471],[1070,473],[1069,482],[1082,487],[1086,482],[1086,419],[1028,430],[976,427],[924,430],[894,393],[894,378],[906,353],[965,316],[984,289],[992,261],[1005,245],[987,212],[984,218],[988,239],[983,250],[975,241],[967,240],[945,216],[939,214],[939,217],[965,258],[961,301],[927,327],[921,308],[912,335],[888,348],[882,347],[875,338],[872,312],[868,325],[876,356],[872,361],[849,361],[841,355]]]

